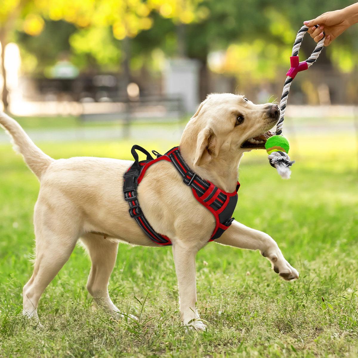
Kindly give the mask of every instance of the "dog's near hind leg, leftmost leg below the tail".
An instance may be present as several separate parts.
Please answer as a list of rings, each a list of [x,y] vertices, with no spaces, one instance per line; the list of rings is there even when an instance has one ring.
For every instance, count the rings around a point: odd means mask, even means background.
[[[23,314],[38,319],[37,306],[48,284],[68,260],[78,239],[78,219],[70,213],[54,215],[49,205],[35,206],[36,258],[34,271],[23,288]]]

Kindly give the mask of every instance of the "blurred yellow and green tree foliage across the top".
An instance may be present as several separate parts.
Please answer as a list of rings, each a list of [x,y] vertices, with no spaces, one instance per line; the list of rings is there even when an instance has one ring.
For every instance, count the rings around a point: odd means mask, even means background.
[[[287,66],[304,20],[350,1],[332,0],[323,6],[318,0],[1,0],[1,5],[2,22],[20,9],[14,40],[21,46],[25,72],[33,72],[36,63],[36,71],[43,73],[63,53],[83,71],[120,71],[126,57],[122,40],[127,37],[134,70],[160,70],[163,58],[178,54],[182,45],[191,58],[204,64],[209,58],[214,72],[240,73],[257,82],[272,79]],[[357,27],[349,29],[327,48],[321,61],[343,72],[353,71],[357,35]],[[308,56],[313,48],[307,39],[300,56]]]

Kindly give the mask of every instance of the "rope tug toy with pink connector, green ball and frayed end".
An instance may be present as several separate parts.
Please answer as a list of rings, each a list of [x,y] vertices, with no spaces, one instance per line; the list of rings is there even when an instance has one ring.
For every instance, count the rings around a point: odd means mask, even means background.
[[[317,27],[318,25],[316,25],[316,28]],[[284,84],[284,89],[282,90],[282,96],[280,101],[281,115],[276,125],[276,135],[269,137],[265,144],[266,151],[269,154],[268,158],[271,166],[277,169],[277,172],[281,175],[283,179],[290,178],[290,166],[295,163],[295,161],[291,161],[290,157],[288,156],[290,149],[289,141],[281,135],[285,117],[287,98],[289,96],[291,83],[298,72],[308,69],[315,63],[316,59],[318,58],[319,54],[323,49],[323,43],[325,40],[325,35],[323,33],[323,38],[317,43],[316,48],[314,49],[310,57],[306,59],[306,61],[300,62],[298,52],[300,50],[304,34],[307,32],[308,29],[309,27],[304,25],[297,33],[296,40],[292,48],[292,56],[290,57],[291,68],[286,73],[287,78]]]

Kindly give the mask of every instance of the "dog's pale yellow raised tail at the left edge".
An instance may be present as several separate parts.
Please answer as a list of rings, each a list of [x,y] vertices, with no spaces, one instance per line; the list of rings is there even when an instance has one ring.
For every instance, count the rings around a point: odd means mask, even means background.
[[[12,138],[15,151],[19,152],[25,163],[40,179],[48,166],[54,161],[38,148],[21,126],[13,118],[0,111],[0,125]]]

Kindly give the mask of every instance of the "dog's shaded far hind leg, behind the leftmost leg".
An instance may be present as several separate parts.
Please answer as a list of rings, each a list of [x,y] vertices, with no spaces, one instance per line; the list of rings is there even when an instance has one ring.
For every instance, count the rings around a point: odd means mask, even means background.
[[[104,238],[99,234],[85,234],[81,237],[92,261],[91,271],[87,281],[87,290],[93,296],[98,306],[113,317],[124,317],[112,302],[108,292],[108,281],[116,263],[118,242]],[[133,315],[129,318],[136,320]]]

